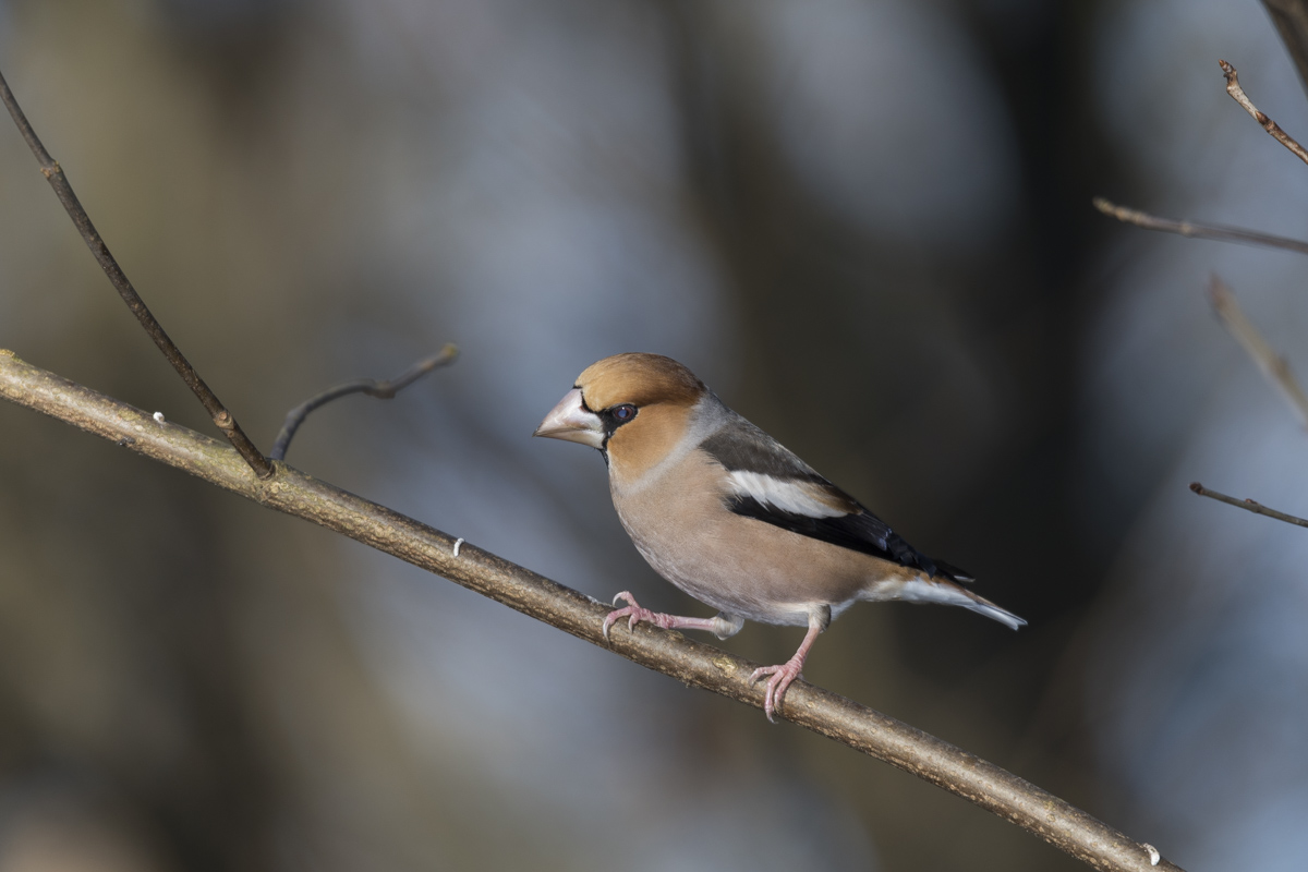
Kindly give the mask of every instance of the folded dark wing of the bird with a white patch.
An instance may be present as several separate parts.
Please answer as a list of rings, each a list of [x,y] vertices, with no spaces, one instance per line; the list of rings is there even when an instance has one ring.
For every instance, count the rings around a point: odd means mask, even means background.
[[[882,560],[972,580],[968,573],[931,561],[889,524],[831,484],[766,433],[736,416],[701,448],[727,471],[727,507],[800,536]]]

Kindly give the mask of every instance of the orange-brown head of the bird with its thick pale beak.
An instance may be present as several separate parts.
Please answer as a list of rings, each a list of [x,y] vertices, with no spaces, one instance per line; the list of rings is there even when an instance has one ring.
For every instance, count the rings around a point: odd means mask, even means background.
[[[589,444],[636,472],[672,450],[706,391],[670,357],[615,354],[587,366],[532,435]]]

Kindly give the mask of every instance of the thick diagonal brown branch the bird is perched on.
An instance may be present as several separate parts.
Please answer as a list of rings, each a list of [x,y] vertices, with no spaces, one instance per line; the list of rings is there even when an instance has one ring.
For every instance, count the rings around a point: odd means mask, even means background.
[[[763,707],[763,692],[749,681],[756,664],[748,660],[647,624],[615,633],[606,643],[600,626],[611,607],[604,603],[285,464],[277,464],[272,481],[252,480],[221,443],[161,424],[126,403],[25,363],[12,352],[0,350],[0,397],[344,533],[678,681]],[[462,544],[458,553],[456,541]],[[1096,869],[1180,872],[1167,860],[1151,864],[1143,843],[1012,773],[804,681],[791,685],[781,714],[971,800]]]

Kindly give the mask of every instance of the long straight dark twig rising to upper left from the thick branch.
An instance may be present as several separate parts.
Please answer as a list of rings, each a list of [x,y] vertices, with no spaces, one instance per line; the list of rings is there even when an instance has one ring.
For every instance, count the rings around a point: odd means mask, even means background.
[[[77,233],[81,234],[82,239],[86,242],[86,247],[90,248],[92,255],[95,256],[95,261],[99,263],[99,268],[105,271],[109,280],[114,284],[118,294],[127,303],[127,307],[132,310],[136,315],[136,320],[140,322],[149,337],[154,340],[154,344],[167,362],[173,365],[186,386],[200,397],[200,403],[204,404],[205,412],[213,418],[213,424],[222,430],[228,441],[232,442],[233,447],[241,456],[245,458],[250,468],[254,469],[255,475],[260,478],[267,478],[272,475],[272,465],[268,463],[267,458],[254,446],[250,437],[245,434],[241,425],[237,424],[235,417],[224,408],[222,403],[213,394],[200,374],[195,371],[191,362],[186,360],[182,350],[169,339],[169,335],[164,332],[164,328],[156,320],[154,315],[145,306],[145,301],[141,295],[136,293],[132,282],[128,281],[127,275],[118,265],[118,260],[110,254],[109,246],[101,239],[99,233],[95,230],[95,225],[92,224],[90,216],[86,214],[86,209],[77,200],[77,195],[73,193],[73,188],[68,184],[68,179],[64,176],[64,171],[59,167],[59,161],[50,156],[46,146],[41,143],[41,137],[31,128],[27,122],[27,116],[24,114],[22,109],[18,106],[18,101],[14,99],[13,92],[9,90],[9,82],[5,81],[4,75],[0,73],[0,102],[4,102],[5,109],[9,110],[9,116],[13,118],[13,123],[18,126],[18,131],[22,133],[22,139],[26,140],[27,148],[31,153],[37,156],[37,162],[41,165],[41,174],[46,176],[50,182],[50,187],[55,190],[55,195],[59,201],[64,204],[64,210],[68,212],[68,217],[73,220],[73,225],[77,226]]]

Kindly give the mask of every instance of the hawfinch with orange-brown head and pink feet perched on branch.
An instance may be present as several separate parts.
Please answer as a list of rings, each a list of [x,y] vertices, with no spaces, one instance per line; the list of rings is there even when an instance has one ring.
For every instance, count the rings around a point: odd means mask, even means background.
[[[963,587],[964,570],[931,560],[780,442],[727,408],[670,357],[629,352],[587,366],[532,435],[598,448],[613,509],[664,579],[718,609],[712,618],[651,612],[613,597],[623,618],[735,635],[746,620],[807,626],[787,662],[761,667],[764,714],[832,618],[857,601],[961,605],[1016,630],[1025,621]]]

